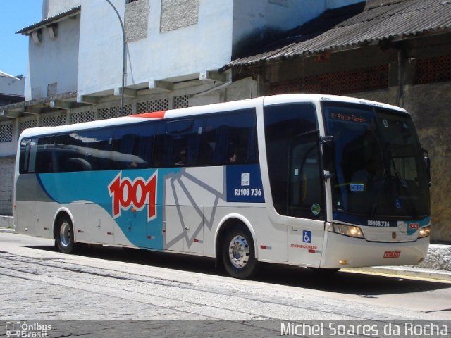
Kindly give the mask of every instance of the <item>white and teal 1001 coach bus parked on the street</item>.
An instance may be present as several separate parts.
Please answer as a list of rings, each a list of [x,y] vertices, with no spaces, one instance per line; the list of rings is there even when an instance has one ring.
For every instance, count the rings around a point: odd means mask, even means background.
[[[264,96],[36,127],[18,141],[16,232],[331,272],[424,260],[430,170],[402,108]],[[322,270],[320,270],[322,269]]]

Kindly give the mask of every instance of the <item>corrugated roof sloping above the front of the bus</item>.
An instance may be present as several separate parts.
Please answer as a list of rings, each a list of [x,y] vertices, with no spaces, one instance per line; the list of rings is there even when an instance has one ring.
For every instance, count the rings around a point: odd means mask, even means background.
[[[424,33],[451,31],[451,0],[404,0],[366,8],[326,32],[318,32],[314,37],[303,35],[302,32],[309,30],[309,25],[318,25],[314,21],[292,30],[285,37],[291,43],[254,56],[238,58],[228,63],[226,68],[350,49],[385,39],[400,40]]]

